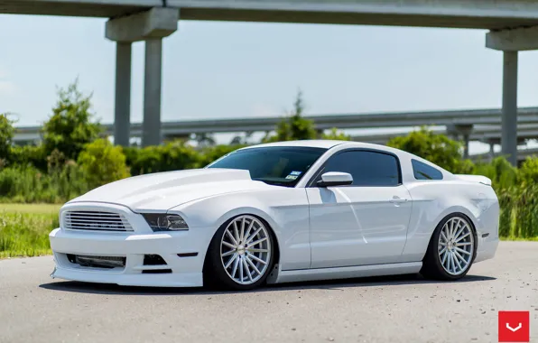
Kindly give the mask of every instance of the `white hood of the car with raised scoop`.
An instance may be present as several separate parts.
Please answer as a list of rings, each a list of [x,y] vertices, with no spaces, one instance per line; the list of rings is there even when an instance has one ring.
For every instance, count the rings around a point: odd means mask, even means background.
[[[128,207],[135,212],[158,212],[197,199],[270,186],[253,181],[250,172],[232,169],[194,169],[157,172],[108,183],[75,202],[106,202]]]

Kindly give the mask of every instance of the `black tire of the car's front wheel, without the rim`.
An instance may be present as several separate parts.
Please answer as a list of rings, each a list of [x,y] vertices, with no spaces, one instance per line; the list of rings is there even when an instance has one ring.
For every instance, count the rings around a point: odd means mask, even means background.
[[[270,247],[271,247],[271,254],[270,254],[270,260],[268,262],[268,266],[265,269],[262,277],[260,277],[255,283],[250,284],[241,284],[237,283],[234,279],[232,279],[227,271],[224,268],[224,265],[221,260],[220,256],[220,245],[222,237],[225,234],[225,230],[227,226],[232,223],[232,221],[238,217],[242,216],[251,216],[259,220],[264,227],[266,228],[268,232],[268,239],[270,241]],[[209,243],[208,253],[206,255],[206,261],[204,264],[204,271],[203,271],[203,277],[204,277],[204,284],[218,288],[218,289],[227,289],[227,290],[234,290],[234,291],[250,291],[253,290],[260,285],[264,284],[267,276],[271,273],[274,267],[274,253],[275,253],[275,238],[274,233],[271,227],[262,219],[258,218],[253,215],[239,215],[234,218],[228,219],[221,227],[218,227],[217,232],[215,233],[215,236],[211,239],[211,242]]]

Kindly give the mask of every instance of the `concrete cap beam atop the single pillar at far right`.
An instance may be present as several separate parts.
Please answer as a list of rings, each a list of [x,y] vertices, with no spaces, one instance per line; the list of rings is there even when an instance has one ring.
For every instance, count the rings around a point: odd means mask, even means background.
[[[488,32],[486,47],[499,51],[538,50],[538,26]]]

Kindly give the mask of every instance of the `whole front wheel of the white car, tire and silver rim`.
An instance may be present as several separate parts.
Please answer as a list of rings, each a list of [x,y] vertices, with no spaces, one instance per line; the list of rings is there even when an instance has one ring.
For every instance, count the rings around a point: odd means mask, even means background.
[[[260,218],[241,215],[218,228],[208,250],[204,277],[246,291],[264,283],[274,259],[274,237]]]

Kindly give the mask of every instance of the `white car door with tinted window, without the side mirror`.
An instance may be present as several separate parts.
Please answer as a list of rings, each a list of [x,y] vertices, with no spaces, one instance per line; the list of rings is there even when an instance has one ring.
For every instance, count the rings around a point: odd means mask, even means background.
[[[320,188],[324,172],[348,172],[353,184]],[[311,268],[396,263],[404,250],[412,201],[396,155],[375,150],[336,153],[306,189]]]

